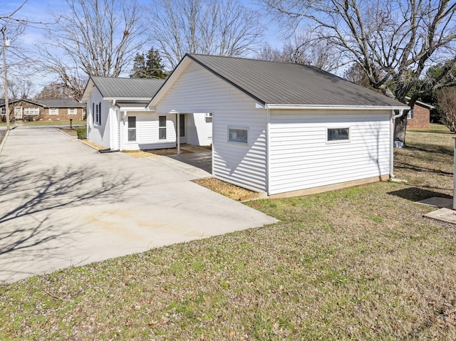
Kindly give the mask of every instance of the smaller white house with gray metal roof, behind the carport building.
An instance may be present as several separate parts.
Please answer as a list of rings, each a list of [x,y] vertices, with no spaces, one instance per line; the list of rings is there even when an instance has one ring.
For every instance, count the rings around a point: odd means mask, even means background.
[[[204,112],[158,114],[146,105],[165,80],[91,77],[81,102],[87,103],[87,138],[111,150],[157,149],[180,143],[210,145],[212,118]]]

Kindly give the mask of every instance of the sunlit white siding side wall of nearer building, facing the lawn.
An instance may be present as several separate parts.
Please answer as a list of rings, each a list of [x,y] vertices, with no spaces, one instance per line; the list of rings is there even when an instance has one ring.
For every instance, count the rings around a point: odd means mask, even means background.
[[[269,194],[390,173],[390,110],[270,115]],[[328,127],[350,127],[350,141],[326,142]]]

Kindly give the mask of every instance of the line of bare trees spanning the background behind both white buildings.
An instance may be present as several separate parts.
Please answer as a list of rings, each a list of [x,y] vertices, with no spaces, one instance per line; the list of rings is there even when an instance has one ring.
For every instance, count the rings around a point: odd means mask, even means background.
[[[20,9],[0,15],[11,36],[31,25]],[[48,43],[33,57],[16,56],[11,70],[35,72],[33,62],[55,75],[51,88],[78,99],[90,76],[165,78],[185,53],[304,63],[345,70],[348,80],[410,106],[437,103],[454,131],[455,11],[450,0],[261,0],[257,9],[240,0],[152,0],[146,8],[136,0],[66,0],[47,23],[33,23]],[[281,28],[280,49],[265,41],[265,14]],[[396,140],[405,142],[406,122],[404,112]]]

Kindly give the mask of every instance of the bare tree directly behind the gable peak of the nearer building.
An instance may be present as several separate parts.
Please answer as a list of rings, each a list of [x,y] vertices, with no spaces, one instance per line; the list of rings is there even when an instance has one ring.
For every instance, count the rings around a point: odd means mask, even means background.
[[[154,0],[149,18],[151,40],[171,68],[185,53],[244,56],[261,43],[259,14],[238,0]]]

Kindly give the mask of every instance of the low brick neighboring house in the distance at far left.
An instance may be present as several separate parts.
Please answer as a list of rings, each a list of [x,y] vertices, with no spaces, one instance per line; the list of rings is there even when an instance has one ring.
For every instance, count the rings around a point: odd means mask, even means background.
[[[5,100],[0,99],[1,121],[6,120]],[[77,100],[9,100],[9,119],[23,121],[83,120],[86,105]]]

